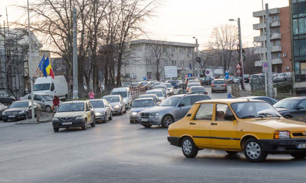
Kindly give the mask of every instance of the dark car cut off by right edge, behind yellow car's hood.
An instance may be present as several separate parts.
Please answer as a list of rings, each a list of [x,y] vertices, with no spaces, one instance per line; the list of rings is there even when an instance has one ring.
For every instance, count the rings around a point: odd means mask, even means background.
[[[285,98],[273,107],[285,118],[306,116],[306,96]]]

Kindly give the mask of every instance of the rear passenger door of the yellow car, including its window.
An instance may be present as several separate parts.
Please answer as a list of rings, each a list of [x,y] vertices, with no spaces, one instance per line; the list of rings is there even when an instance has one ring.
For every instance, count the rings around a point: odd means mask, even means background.
[[[192,120],[189,122],[189,134],[197,146],[210,145],[210,126],[212,123],[213,103],[199,105]]]

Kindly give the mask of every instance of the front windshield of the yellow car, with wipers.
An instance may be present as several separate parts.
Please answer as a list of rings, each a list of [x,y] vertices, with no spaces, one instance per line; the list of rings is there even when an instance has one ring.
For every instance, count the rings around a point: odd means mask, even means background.
[[[239,118],[281,116],[266,102],[239,102],[231,106]]]

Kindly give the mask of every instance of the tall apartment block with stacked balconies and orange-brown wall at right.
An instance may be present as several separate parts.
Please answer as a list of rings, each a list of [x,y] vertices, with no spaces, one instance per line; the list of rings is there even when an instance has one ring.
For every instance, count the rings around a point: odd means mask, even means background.
[[[259,54],[262,58],[255,61],[255,66],[260,67],[264,54],[266,55],[266,25],[265,21],[263,22],[263,16],[265,20],[265,10],[253,12],[253,17],[259,19],[259,23],[253,24],[253,29],[260,31],[260,36],[254,37],[254,42],[260,45],[256,47],[254,54]],[[275,73],[292,70],[289,17],[289,6],[269,9],[272,72]]]

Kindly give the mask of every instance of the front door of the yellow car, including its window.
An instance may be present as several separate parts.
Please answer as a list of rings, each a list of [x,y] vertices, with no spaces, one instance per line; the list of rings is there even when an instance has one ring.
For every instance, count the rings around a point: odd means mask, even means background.
[[[210,139],[212,146],[233,146],[239,145],[236,129],[237,121],[230,119],[233,113],[228,105],[215,104],[214,121],[210,126]]]

